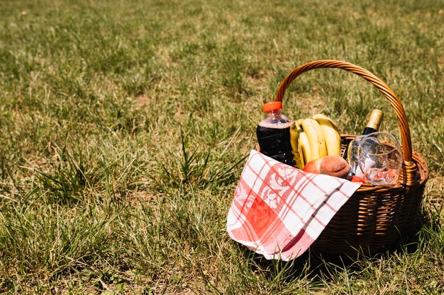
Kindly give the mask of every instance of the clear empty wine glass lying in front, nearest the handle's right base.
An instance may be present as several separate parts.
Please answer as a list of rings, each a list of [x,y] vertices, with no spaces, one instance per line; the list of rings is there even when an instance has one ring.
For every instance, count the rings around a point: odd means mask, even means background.
[[[390,185],[398,180],[402,154],[394,134],[373,132],[360,138],[357,162],[372,185]]]

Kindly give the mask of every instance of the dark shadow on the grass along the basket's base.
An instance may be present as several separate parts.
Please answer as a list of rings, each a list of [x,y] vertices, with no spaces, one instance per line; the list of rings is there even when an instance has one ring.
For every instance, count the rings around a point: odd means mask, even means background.
[[[250,264],[252,271],[261,272],[268,280],[279,279],[279,281],[286,283],[304,278],[316,286],[337,280],[340,272],[359,273],[365,267],[381,260],[389,260],[395,255],[414,255],[418,250],[428,245],[433,234],[438,234],[441,228],[439,219],[433,219],[429,212],[421,211],[407,237],[399,238],[391,247],[386,247],[370,255],[358,250],[354,255],[332,255],[309,249],[299,258],[284,262],[267,260],[254,251],[245,247],[240,248],[244,258],[252,262]]]

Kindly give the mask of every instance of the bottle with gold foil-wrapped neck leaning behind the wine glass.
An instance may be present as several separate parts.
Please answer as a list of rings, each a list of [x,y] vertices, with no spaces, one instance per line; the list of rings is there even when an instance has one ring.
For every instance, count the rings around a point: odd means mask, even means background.
[[[353,141],[351,141],[348,145],[348,163],[350,164],[350,173],[348,173],[349,177],[352,177],[353,175],[359,177],[362,176],[362,171],[359,167],[359,163],[357,162],[357,147],[359,146],[360,139],[362,139],[362,137],[379,130],[383,117],[384,112],[382,112],[382,110],[372,110],[372,112],[370,112],[367,124],[362,131],[362,135],[353,139]]]

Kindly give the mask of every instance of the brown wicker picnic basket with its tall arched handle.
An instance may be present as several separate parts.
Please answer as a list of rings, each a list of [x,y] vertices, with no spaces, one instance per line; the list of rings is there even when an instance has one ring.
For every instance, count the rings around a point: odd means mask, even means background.
[[[329,254],[377,253],[391,248],[410,233],[421,207],[428,168],[423,158],[412,151],[409,124],[401,101],[386,83],[360,66],[331,59],[303,64],[282,81],[275,100],[282,101],[289,84],[297,76],[321,68],[350,71],[372,83],[387,98],[399,121],[403,164],[396,184],[362,185],[333,216],[312,248]],[[341,134],[342,149],[355,137]]]

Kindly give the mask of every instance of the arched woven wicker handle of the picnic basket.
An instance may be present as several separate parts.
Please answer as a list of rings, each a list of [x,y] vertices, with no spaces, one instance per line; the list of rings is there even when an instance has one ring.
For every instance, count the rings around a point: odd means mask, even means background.
[[[410,137],[410,129],[409,123],[407,122],[406,112],[404,111],[404,107],[402,106],[401,100],[396,96],[396,94],[392,91],[386,83],[384,83],[377,76],[372,74],[370,71],[363,69],[360,66],[356,66],[355,64],[350,64],[349,62],[342,62],[333,59],[321,59],[313,62],[309,62],[307,64],[303,64],[301,66],[296,67],[290,74],[285,77],[282,83],[279,85],[276,93],[276,101],[282,101],[284,97],[284,93],[287,90],[288,86],[297,76],[300,74],[310,71],[312,69],[320,69],[320,68],[332,68],[332,69],[343,69],[345,71],[350,71],[357,76],[361,76],[365,80],[372,83],[379,91],[384,94],[384,96],[389,100],[390,105],[394,112],[396,113],[396,117],[399,122],[399,130],[401,131],[401,144],[402,144],[402,158],[404,160],[404,165],[406,166],[414,166],[412,162],[412,149],[411,149],[411,137]]]

